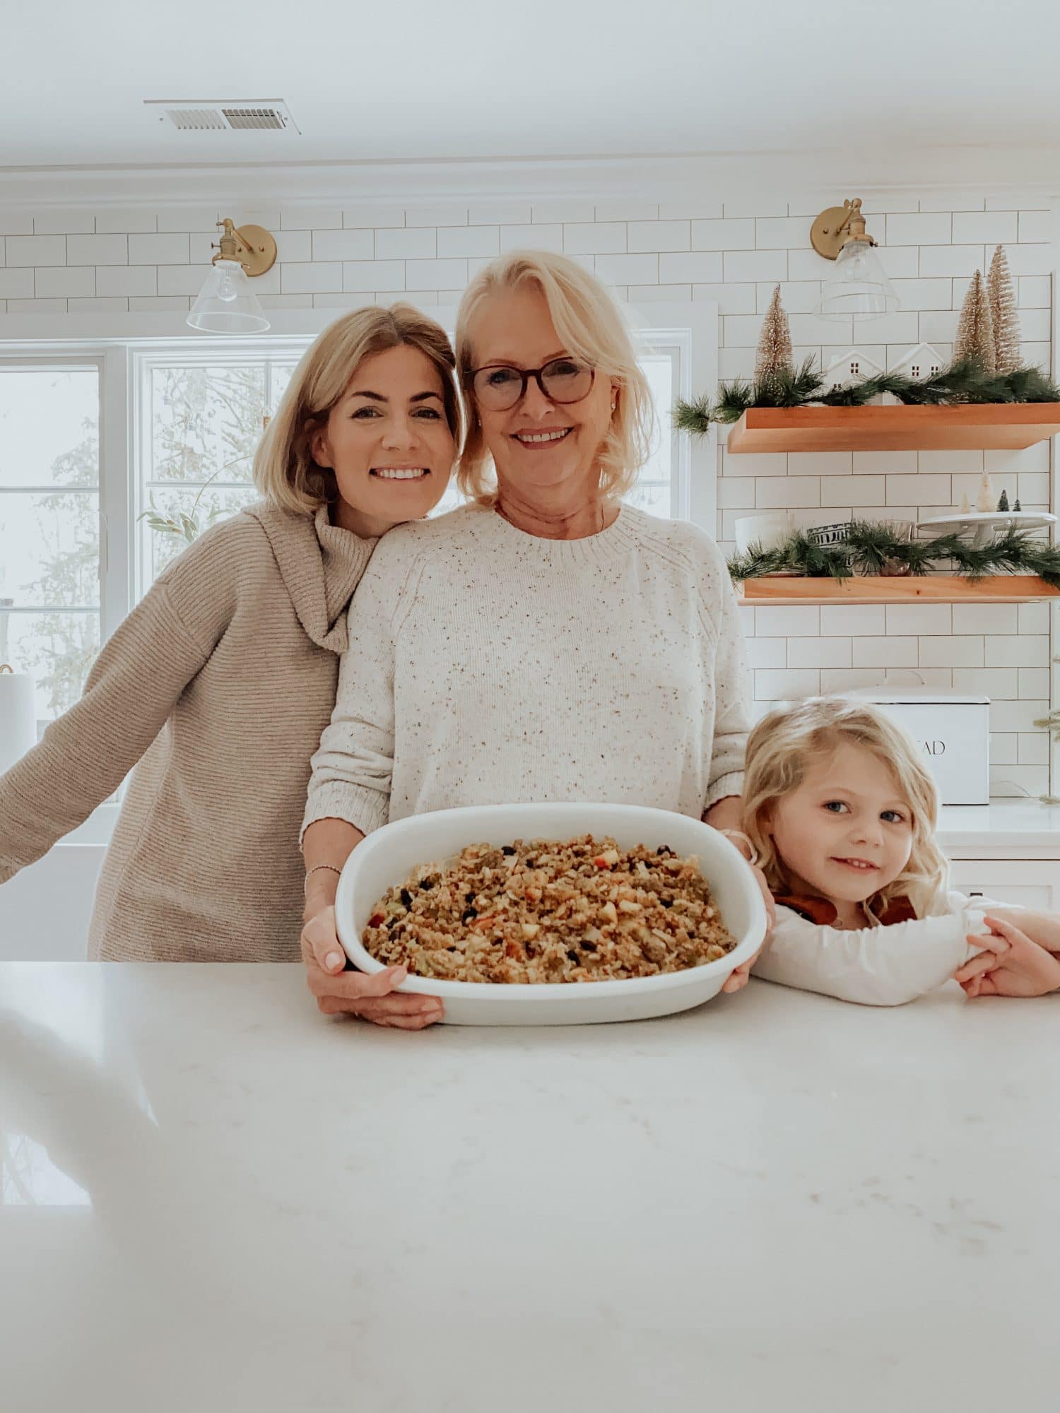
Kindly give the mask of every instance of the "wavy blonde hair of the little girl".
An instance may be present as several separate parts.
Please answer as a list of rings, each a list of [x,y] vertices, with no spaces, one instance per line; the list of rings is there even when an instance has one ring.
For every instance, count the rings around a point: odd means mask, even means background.
[[[770,805],[797,790],[811,764],[848,742],[881,760],[893,774],[912,812],[913,848],[905,870],[868,900],[879,913],[893,897],[906,894],[923,917],[931,897],[946,886],[948,865],[934,842],[938,791],[909,732],[879,708],[844,697],[810,697],[770,711],[748,738],[743,777],[743,828],[775,892],[789,892],[791,880],[773,838],[766,832]]]

